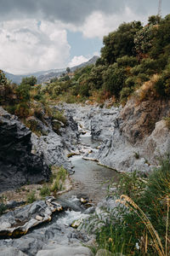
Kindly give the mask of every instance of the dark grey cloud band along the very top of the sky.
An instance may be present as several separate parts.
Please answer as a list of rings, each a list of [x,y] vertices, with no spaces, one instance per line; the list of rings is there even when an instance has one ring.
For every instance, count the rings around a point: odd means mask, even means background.
[[[124,7],[133,9],[136,15],[156,15],[156,0],[1,0],[0,19],[15,20],[23,18],[42,20],[62,20],[65,23],[80,25],[94,12],[105,15],[122,15]],[[163,12],[170,8],[169,0],[162,3]]]

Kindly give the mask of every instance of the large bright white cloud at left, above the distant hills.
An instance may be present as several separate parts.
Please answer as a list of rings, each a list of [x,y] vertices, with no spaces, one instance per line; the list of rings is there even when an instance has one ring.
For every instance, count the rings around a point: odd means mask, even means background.
[[[28,73],[65,67],[71,46],[59,22],[13,20],[0,23],[0,68]]]

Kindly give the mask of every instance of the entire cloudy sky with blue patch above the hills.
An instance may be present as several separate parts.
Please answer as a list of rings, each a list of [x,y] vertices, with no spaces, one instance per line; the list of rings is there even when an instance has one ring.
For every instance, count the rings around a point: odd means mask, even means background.
[[[31,73],[73,67],[100,54],[122,22],[146,23],[158,0],[0,0],[0,69]],[[161,15],[170,13],[162,0]]]

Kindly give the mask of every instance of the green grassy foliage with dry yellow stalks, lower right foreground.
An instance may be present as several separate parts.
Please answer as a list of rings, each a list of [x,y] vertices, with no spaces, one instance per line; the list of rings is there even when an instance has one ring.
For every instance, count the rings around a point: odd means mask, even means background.
[[[108,200],[121,200],[86,221],[88,230],[96,235],[98,247],[125,255],[168,255],[169,183],[169,154],[148,178],[137,172],[123,173],[114,192],[110,189],[108,195]]]

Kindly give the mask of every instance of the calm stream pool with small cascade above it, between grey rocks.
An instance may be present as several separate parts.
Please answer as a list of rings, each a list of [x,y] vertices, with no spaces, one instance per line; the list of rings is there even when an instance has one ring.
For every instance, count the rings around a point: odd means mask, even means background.
[[[93,150],[99,146],[98,141],[92,140],[89,132],[81,136],[82,148],[85,151]],[[71,157],[74,174],[71,176],[76,184],[73,190],[61,197],[69,198],[71,195],[88,197],[95,204],[101,201],[111,181],[116,182],[118,174],[105,166],[99,166],[96,161],[83,160],[83,154]]]

